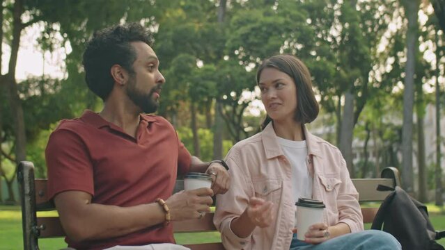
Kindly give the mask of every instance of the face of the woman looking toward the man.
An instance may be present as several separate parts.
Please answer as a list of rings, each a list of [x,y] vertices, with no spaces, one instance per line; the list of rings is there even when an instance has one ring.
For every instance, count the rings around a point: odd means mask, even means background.
[[[258,85],[267,115],[274,121],[294,119],[297,108],[297,87],[294,80],[275,68],[265,68]]]

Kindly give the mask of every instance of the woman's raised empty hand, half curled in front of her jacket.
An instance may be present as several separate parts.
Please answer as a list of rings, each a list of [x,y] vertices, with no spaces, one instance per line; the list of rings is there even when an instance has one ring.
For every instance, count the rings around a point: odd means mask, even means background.
[[[249,206],[247,206],[246,213],[253,225],[265,228],[270,226],[274,221],[274,215],[272,213],[273,207],[274,204],[272,201],[252,197],[249,199]]]

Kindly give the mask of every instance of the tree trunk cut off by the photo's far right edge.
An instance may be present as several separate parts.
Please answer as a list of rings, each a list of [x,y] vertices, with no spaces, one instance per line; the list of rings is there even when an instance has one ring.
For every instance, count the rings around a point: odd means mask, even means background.
[[[444,4],[445,5],[445,4]],[[444,10],[445,11],[445,10]],[[445,27],[444,27],[445,31]],[[441,59],[439,51],[439,36],[437,31],[435,34],[436,43],[436,167],[435,167],[435,203],[437,206],[444,206],[443,190],[442,190],[442,167],[440,166],[440,160],[442,157],[442,152],[440,149],[440,87],[439,87],[439,62]]]

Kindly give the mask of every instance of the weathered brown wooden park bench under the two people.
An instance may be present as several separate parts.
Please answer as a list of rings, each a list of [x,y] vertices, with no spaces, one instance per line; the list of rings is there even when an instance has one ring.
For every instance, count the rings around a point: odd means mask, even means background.
[[[387,167],[382,170],[382,178],[361,178],[352,179],[355,187],[359,191],[359,201],[382,201],[389,192],[379,192],[377,185],[387,185],[394,187],[400,185],[398,170],[394,167]],[[22,199],[22,226],[23,242],[25,250],[37,250],[39,238],[60,238],[65,236],[58,217],[38,217],[36,212],[56,210],[54,203],[47,197],[47,179],[34,178],[34,165],[31,162],[23,161],[19,163],[17,179],[20,186]],[[183,182],[178,180],[175,192],[182,190]],[[364,223],[373,222],[373,218],[378,208],[362,208]],[[213,224],[213,213],[206,214],[203,219],[190,219],[183,222],[173,222],[175,233],[196,233],[217,231]],[[186,244],[192,250],[224,250],[221,242]]]

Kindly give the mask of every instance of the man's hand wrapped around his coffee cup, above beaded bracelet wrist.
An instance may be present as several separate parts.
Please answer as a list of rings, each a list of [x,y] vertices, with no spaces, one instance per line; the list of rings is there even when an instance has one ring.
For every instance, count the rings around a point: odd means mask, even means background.
[[[203,213],[210,213],[213,191],[210,188],[181,191],[165,202],[170,209],[172,221],[200,219]]]

